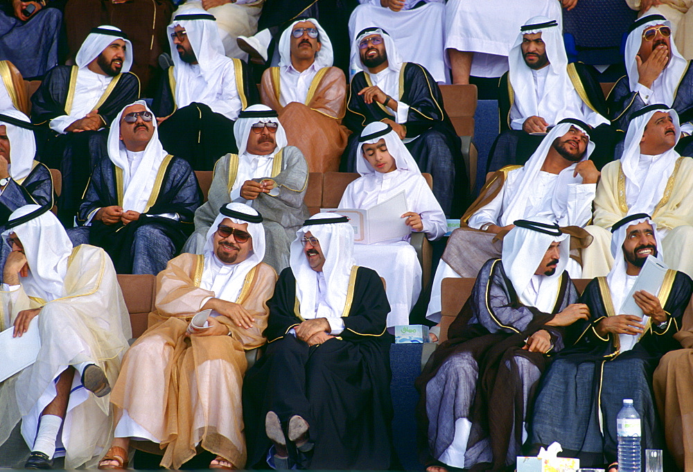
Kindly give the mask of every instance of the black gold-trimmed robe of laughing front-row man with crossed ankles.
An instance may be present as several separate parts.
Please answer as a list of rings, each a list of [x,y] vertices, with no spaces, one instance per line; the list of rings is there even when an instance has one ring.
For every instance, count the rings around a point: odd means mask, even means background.
[[[295,414],[308,421],[313,451],[304,457],[295,448],[289,451],[307,469],[389,469],[392,336],[385,331],[389,304],[378,274],[352,268],[344,331],[324,344],[308,347],[288,332],[304,321],[290,268],[279,275],[267,306],[267,352],[243,381],[247,466],[267,466],[271,443],[265,435],[265,414],[274,411],[285,429]]]

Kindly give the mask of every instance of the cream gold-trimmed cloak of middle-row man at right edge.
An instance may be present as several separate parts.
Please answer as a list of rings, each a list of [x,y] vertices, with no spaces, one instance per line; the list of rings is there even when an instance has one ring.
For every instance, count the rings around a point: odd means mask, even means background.
[[[651,214],[658,229],[668,229],[663,238],[664,261],[669,268],[693,275],[693,251],[681,251],[693,243],[693,159],[679,157],[674,164],[664,195]],[[613,161],[602,169],[594,202],[593,225],[585,229],[594,237],[583,252],[584,279],[608,274],[613,264],[611,256],[611,226],[628,212],[626,203],[626,176],[621,161]],[[640,211],[639,209],[635,209]]]

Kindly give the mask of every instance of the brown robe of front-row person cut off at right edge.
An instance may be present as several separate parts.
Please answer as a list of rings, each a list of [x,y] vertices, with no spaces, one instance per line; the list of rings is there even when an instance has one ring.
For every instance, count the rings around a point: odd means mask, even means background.
[[[674,334],[684,349],[669,351],[659,361],[652,388],[664,423],[667,448],[678,469],[693,471],[693,313],[687,306],[681,331]]]

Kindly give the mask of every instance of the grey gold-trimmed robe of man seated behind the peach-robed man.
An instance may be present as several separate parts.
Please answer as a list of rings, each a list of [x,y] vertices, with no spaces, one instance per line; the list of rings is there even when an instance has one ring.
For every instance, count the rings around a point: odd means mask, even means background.
[[[186,241],[183,252],[202,254],[207,230],[212,225],[222,205],[231,202],[231,190],[236,182],[238,155],[227,154],[214,164],[214,177],[209,187],[207,202],[195,211],[195,232]],[[289,266],[289,245],[296,238],[296,231],[303,226],[310,213],[304,205],[308,186],[308,166],[301,151],[286,146],[274,155],[272,175],[253,179],[274,181],[272,193],[261,193],[248,202],[262,216],[265,229],[265,263],[281,272]]]

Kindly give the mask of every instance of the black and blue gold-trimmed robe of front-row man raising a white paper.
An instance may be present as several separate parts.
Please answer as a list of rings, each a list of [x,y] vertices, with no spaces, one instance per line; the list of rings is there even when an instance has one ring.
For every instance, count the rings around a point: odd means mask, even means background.
[[[683,272],[669,270],[657,294],[668,315],[664,328],[651,320],[633,349],[620,352],[618,335],[602,338],[595,329],[616,313],[606,277],[585,288],[579,303],[590,309],[589,320],[568,328],[574,344],[556,356],[545,374],[534,405],[532,444],[557,441],[565,457],[579,457],[591,467],[616,460],[616,416],[623,399],[633,399],[640,414],[642,451],[663,449],[664,438],[652,396],[652,373],[660,358],[681,344],[674,334],[693,292],[693,281]],[[644,463],[644,462],[643,462]],[[665,470],[667,466],[665,466]]]

